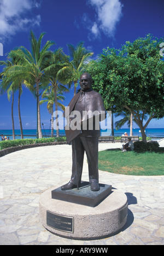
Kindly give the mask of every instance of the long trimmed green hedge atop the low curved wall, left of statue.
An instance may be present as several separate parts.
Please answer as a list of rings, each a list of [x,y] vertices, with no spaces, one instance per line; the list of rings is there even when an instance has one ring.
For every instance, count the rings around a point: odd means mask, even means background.
[[[66,141],[66,137],[53,137],[41,139],[18,139],[18,140],[4,140],[0,141],[0,150],[7,149],[8,147],[16,147],[30,144],[50,143],[55,141]]]

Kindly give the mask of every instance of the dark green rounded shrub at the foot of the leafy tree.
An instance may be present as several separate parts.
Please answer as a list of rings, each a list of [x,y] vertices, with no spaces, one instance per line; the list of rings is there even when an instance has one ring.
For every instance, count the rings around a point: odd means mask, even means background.
[[[144,143],[143,141],[134,142],[134,151],[145,152],[145,151],[157,151],[159,149],[159,144],[157,141],[149,141]]]

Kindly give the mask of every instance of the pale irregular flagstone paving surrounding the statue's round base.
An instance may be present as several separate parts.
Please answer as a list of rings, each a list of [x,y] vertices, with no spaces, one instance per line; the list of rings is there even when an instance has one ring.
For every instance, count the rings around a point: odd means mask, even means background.
[[[121,147],[99,144],[99,150]],[[164,176],[128,176],[99,171],[99,181],[112,184],[128,198],[128,219],[119,234],[93,241],[61,238],[39,221],[39,197],[71,175],[69,145],[35,147],[0,158],[0,244],[111,245],[164,244]],[[83,180],[88,180],[86,157]]]

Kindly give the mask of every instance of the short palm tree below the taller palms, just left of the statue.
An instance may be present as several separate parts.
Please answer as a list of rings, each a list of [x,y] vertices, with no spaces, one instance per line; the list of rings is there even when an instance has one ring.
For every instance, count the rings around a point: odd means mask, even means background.
[[[54,110],[53,110],[53,105],[55,104],[55,94],[54,94],[54,90],[51,89],[50,94],[46,94],[46,90],[44,91],[43,95],[42,95],[42,99],[40,100],[40,105],[43,103],[47,103],[47,109],[49,111],[49,113],[51,114],[51,137],[54,137]],[[58,91],[57,92],[57,105],[59,107],[61,107],[62,110],[65,110],[65,106],[62,105],[61,103],[58,102],[58,100],[65,100],[65,96],[63,96],[63,92]],[[57,120],[56,120],[57,122]],[[57,127],[57,125],[56,125]]]

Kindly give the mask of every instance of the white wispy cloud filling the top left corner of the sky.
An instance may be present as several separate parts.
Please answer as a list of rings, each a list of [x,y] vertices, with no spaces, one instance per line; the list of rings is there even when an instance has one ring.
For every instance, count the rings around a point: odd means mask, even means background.
[[[32,0],[1,0],[0,40],[4,42],[16,32],[40,24],[40,15],[33,16],[31,10],[38,8],[39,2]]]

